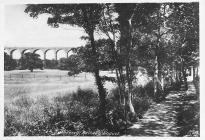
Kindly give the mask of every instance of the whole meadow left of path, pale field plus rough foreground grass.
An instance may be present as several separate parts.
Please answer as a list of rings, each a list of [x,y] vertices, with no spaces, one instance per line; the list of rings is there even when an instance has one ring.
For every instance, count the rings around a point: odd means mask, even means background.
[[[4,136],[113,136],[124,135],[124,117],[118,89],[105,82],[107,90],[106,129],[99,128],[99,97],[92,73],[68,76],[61,70],[14,70],[4,72]],[[101,71],[101,76],[112,76]],[[137,94],[137,114],[145,112],[152,100]]]

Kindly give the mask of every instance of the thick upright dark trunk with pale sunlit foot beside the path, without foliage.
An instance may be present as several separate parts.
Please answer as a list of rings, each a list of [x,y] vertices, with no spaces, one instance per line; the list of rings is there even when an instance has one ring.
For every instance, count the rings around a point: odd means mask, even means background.
[[[127,95],[126,95],[126,106],[128,107],[129,111],[132,114],[136,114],[134,107],[132,105],[132,78],[130,74],[130,50],[132,47],[132,25],[131,20],[133,17],[133,12],[135,5],[129,5],[126,8],[122,8],[121,4],[116,5],[118,8],[117,12],[119,14],[118,21],[120,24],[120,54],[122,56],[123,66],[126,68],[126,80],[125,83],[127,85],[123,85],[124,87],[127,87]],[[129,9],[129,10],[128,10]],[[126,14],[125,14],[126,13]],[[121,74],[123,75],[123,71],[121,71]],[[124,75],[123,75],[124,76]],[[124,78],[122,76],[122,78]],[[127,112],[125,110],[125,112]],[[126,113],[127,114],[127,113]]]

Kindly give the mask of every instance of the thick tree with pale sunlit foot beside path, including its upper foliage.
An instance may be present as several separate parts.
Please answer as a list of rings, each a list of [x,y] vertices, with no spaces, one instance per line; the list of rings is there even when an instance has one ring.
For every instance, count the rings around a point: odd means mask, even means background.
[[[125,66],[126,71],[126,81],[128,85],[128,95],[127,103],[130,112],[135,114],[132,105],[132,81],[134,66],[132,65],[132,58],[134,55],[133,50],[136,45],[134,40],[134,35],[136,29],[139,29],[141,25],[146,24],[147,17],[158,8],[158,4],[115,4],[116,12],[118,13],[118,22],[120,30],[120,40],[119,40],[119,52],[120,57],[124,60],[122,63]]]

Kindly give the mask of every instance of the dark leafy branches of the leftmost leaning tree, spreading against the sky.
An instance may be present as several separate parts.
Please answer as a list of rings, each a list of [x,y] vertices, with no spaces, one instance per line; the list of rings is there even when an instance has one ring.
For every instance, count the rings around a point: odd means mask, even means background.
[[[31,17],[48,13],[48,24],[59,27],[59,24],[69,24],[83,27],[86,32],[94,29],[101,14],[101,4],[37,4],[28,5],[25,9]]]

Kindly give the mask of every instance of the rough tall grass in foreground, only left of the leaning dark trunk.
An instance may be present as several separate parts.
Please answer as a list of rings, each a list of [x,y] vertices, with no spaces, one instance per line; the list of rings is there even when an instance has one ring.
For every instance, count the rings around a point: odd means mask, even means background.
[[[76,135],[75,132],[80,135],[84,130],[91,131],[85,128],[85,122],[96,111],[97,102],[92,101],[92,104],[95,105],[85,105],[71,94],[52,100],[47,96],[36,100],[19,96],[5,106],[4,135]]]

